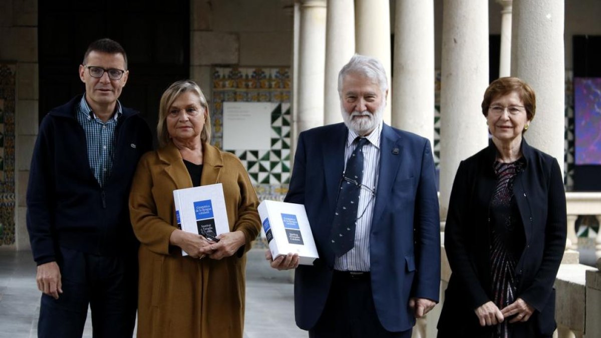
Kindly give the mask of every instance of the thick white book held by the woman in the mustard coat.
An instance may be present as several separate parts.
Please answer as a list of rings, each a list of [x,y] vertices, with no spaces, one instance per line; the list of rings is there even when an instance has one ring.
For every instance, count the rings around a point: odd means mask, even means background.
[[[185,232],[217,237],[230,232],[221,183],[173,191],[177,225]],[[188,256],[182,250],[182,256]]]

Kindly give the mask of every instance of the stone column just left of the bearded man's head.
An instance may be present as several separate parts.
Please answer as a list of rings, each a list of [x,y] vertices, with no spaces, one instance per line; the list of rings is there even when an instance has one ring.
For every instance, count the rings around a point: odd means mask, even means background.
[[[338,96],[338,72],[355,54],[353,0],[328,0],[326,24],[325,124],[342,122]]]

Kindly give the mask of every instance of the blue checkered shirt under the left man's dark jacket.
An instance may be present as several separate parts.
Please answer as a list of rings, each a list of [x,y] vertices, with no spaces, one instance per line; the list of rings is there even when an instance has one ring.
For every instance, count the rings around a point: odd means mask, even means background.
[[[115,129],[119,118],[123,114],[121,103],[117,101],[117,112],[106,122],[96,117],[96,114],[85,100],[85,94],[81,98],[79,106],[76,106],[75,109],[77,120],[84,128],[90,168],[100,186],[104,186],[111,175],[115,158]]]

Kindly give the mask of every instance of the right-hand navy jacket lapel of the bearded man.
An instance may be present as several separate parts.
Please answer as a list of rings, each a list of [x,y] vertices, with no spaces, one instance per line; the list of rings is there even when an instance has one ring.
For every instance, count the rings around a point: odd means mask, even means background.
[[[397,177],[398,168],[403,158],[403,145],[401,137],[387,124],[382,124],[382,137],[380,137],[380,171],[377,177],[376,200],[374,201],[374,215],[371,227],[378,224],[384,208],[385,201],[391,198],[392,186]]]

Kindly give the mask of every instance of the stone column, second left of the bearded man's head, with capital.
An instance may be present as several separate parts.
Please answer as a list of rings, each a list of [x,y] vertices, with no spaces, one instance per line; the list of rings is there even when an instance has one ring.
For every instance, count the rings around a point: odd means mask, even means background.
[[[326,51],[325,0],[301,1],[296,132],[323,125]],[[297,134],[298,135],[298,134]]]

